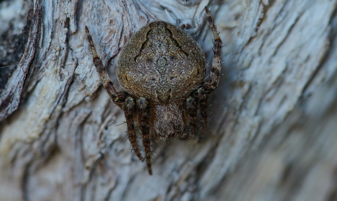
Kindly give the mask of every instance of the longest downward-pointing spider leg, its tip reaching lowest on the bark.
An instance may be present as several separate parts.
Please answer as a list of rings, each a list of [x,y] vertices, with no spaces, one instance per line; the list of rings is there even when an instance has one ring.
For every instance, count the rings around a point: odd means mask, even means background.
[[[145,151],[146,165],[149,170],[149,174],[152,174],[151,169],[151,135],[150,135],[150,105],[149,102],[144,97],[140,97],[137,100],[137,111],[138,111],[138,123],[140,131],[142,134],[142,141]]]

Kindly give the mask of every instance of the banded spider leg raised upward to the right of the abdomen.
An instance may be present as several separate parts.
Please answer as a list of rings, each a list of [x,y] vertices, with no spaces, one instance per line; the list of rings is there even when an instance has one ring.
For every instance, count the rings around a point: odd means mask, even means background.
[[[222,41],[221,38],[219,36],[219,32],[216,29],[216,25],[214,24],[213,21],[213,17],[211,15],[211,12],[209,11],[209,9],[205,6],[205,10],[206,10],[206,15],[207,15],[207,20],[210,24],[211,30],[213,32],[213,37],[214,37],[214,41],[213,41],[213,65],[211,68],[211,73],[210,73],[210,77],[211,79],[209,81],[207,81],[207,85],[205,86],[205,91],[206,93],[214,90],[218,84],[219,84],[219,78],[220,78],[220,65],[221,65],[221,46],[222,46]]]

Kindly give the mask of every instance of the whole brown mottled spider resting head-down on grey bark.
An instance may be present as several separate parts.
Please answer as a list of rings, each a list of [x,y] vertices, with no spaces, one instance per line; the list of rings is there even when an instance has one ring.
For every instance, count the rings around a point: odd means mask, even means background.
[[[93,63],[112,102],[124,111],[128,139],[142,161],[135,131],[137,116],[150,175],[150,128],[154,127],[162,139],[175,136],[185,139],[195,137],[199,128],[205,130],[207,126],[207,99],[219,83],[222,42],[206,6],[205,10],[214,36],[209,80],[205,79],[205,55],[195,40],[173,24],[153,21],[137,31],[122,50],[117,77],[124,90],[116,91],[85,27]]]

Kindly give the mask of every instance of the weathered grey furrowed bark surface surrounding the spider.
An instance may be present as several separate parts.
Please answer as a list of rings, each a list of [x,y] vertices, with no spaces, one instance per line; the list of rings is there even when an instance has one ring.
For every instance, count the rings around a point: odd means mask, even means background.
[[[211,65],[206,5],[225,45],[206,138],[156,139],[150,176],[84,26],[112,80],[156,19],[184,25]],[[337,200],[337,0],[15,0],[0,22],[1,201]]]

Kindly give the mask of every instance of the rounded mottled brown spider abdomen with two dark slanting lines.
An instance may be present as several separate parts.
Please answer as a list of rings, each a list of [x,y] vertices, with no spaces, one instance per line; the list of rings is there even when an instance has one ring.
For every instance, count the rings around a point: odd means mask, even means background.
[[[117,76],[129,93],[172,102],[200,85],[206,74],[204,53],[180,28],[164,21],[142,27],[118,60]]]

